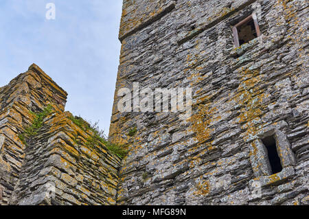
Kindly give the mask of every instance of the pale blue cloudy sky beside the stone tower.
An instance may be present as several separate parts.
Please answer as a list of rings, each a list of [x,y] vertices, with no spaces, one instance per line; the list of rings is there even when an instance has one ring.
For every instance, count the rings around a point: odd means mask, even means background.
[[[69,93],[67,111],[108,134],[122,0],[1,0],[0,14],[0,87],[36,63]]]

